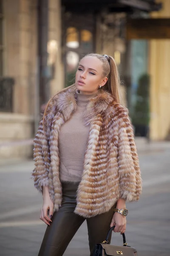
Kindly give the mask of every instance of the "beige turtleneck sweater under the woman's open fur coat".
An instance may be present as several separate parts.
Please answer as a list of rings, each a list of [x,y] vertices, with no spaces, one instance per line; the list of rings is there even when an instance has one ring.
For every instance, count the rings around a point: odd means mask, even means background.
[[[79,182],[83,172],[85,148],[89,126],[83,122],[83,113],[89,99],[96,94],[84,95],[77,92],[77,109],[71,119],[59,131],[59,177],[61,181]]]

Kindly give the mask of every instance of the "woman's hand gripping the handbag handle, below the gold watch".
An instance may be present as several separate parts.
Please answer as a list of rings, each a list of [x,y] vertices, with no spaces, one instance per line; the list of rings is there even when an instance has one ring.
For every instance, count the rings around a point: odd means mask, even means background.
[[[126,217],[123,217],[119,212],[115,212],[111,221],[110,227],[114,228],[114,232],[121,232],[121,234],[125,233],[126,230]]]

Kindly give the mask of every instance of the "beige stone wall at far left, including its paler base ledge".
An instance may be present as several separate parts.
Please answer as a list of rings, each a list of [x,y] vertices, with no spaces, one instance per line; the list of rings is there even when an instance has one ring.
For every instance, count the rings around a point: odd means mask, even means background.
[[[0,113],[0,158],[28,157],[32,155],[32,145],[22,142],[34,135],[37,0],[3,0],[3,9],[4,76],[14,78],[15,84],[14,113]],[[12,144],[14,141],[21,145]]]

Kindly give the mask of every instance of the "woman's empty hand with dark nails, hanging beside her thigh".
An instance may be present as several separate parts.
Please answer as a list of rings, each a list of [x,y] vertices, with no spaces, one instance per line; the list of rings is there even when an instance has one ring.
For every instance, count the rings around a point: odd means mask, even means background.
[[[44,221],[45,224],[50,226],[51,218],[48,217],[48,211],[49,211],[49,216],[53,215],[53,208],[54,204],[51,201],[50,197],[45,197],[43,200],[42,208],[41,208],[41,215],[40,215],[40,220]]]

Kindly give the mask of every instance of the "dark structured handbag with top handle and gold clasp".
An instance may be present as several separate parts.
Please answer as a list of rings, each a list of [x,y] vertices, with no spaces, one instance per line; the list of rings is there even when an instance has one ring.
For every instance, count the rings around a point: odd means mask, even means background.
[[[95,245],[93,256],[137,256],[136,249],[127,245],[125,234],[122,234],[123,246],[109,244],[108,239],[114,228],[115,226],[111,227],[111,229],[108,231],[106,240],[104,240],[101,244]]]

